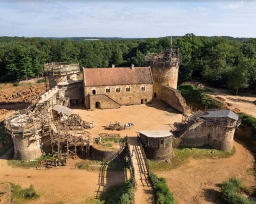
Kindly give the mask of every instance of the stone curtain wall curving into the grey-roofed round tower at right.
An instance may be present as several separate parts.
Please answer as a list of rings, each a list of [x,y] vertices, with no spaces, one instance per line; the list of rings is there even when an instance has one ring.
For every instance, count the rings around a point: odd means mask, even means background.
[[[179,147],[210,145],[218,150],[231,151],[234,133],[235,129],[218,125],[206,125],[203,121],[191,123],[188,125],[187,130],[181,134]]]

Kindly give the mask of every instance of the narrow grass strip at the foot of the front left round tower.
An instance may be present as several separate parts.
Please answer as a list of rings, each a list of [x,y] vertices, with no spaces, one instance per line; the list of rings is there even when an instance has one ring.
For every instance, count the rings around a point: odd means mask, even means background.
[[[25,161],[20,161],[20,160],[8,160],[7,164],[12,166],[12,167],[22,167],[22,168],[31,168],[31,167],[36,167],[36,165],[45,159],[52,159],[54,160],[54,158],[50,155],[45,155],[42,157],[39,157],[33,161],[30,162],[25,162]]]

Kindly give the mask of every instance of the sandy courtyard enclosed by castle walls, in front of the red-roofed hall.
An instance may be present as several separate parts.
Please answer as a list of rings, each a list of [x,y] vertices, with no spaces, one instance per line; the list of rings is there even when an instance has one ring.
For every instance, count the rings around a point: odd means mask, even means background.
[[[87,111],[84,106],[72,107],[73,112],[82,117],[82,120],[94,122],[94,128],[90,131],[92,137],[98,137],[100,133],[119,133],[122,137],[136,136],[139,130],[170,130],[169,124],[181,122],[182,115],[171,113],[172,109],[168,108],[161,101],[154,101],[149,105],[123,106],[117,109],[95,109]],[[112,131],[105,130],[104,126],[109,123],[119,122],[120,125],[125,123],[134,123],[131,130]]]

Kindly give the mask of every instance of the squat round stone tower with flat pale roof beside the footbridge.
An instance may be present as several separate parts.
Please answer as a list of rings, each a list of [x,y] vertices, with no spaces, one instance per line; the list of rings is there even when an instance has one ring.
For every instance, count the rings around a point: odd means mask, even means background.
[[[168,130],[139,131],[139,138],[148,159],[166,160],[172,157],[172,133]]]

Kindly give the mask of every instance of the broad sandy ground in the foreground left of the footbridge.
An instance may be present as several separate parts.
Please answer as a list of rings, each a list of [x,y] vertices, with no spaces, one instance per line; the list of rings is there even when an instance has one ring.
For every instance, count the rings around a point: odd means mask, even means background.
[[[108,186],[124,183],[122,172],[108,172]],[[34,168],[12,168],[0,159],[0,181],[13,182],[27,188],[35,186],[40,194],[31,204],[83,203],[95,197],[99,191],[99,171],[85,171],[72,166],[37,170]]]

